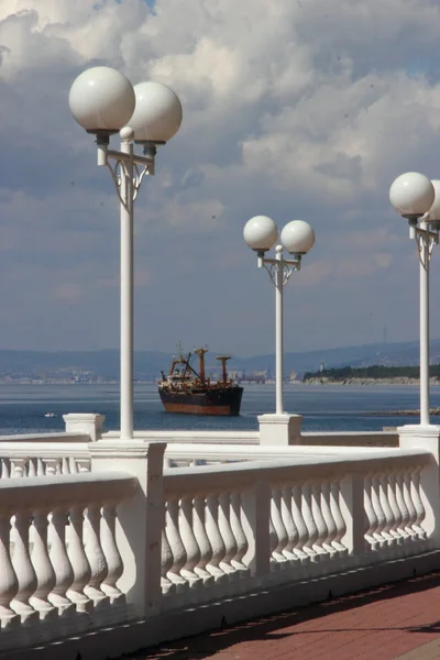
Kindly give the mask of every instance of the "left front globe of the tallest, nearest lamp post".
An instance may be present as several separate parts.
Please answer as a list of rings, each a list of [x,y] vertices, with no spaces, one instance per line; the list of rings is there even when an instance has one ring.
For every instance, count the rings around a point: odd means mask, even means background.
[[[108,66],[85,70],[70,87],[70,112],[89,133],[117,133],[133,114],[135,102],[130,80]]]

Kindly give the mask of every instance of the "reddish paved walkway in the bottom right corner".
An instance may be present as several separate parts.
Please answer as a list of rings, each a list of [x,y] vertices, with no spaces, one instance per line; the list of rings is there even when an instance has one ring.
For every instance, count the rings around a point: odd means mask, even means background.
[[[440,660],[440,571],[138,652],[132,660]]]

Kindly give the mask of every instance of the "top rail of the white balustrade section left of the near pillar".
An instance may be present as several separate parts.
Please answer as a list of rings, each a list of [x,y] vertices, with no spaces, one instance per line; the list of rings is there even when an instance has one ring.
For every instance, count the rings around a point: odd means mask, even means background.
[[[138,479],[125,472],[98,472],[0,480],[0,510],[54,509],[90,502],[119,502],[133,495]]]

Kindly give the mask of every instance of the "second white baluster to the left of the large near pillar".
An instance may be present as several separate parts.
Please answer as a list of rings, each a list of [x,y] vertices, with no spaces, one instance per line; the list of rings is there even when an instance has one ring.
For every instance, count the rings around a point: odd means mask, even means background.
[[[108,568],[101,548],[101,503],[94,502],[87,507],[86,516],[86,556],[90,565],[91,576],[84,593],[94,602],[95,609],[109,605],[110,598],[101,590],[101,583],[107,578]]]

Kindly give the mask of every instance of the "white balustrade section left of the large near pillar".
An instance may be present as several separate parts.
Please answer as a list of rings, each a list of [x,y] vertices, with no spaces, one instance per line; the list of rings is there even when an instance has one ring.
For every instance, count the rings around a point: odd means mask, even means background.
[[[135,487],[113,472],[0,481],[0,649],[111,623],[124,601],[117,506]]]

